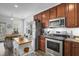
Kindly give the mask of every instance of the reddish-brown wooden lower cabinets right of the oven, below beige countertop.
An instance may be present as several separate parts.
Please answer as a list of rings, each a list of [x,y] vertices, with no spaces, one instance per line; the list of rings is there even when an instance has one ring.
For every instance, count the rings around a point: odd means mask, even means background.
[[[64,56],[79,56],[79,43],[64,41]]]

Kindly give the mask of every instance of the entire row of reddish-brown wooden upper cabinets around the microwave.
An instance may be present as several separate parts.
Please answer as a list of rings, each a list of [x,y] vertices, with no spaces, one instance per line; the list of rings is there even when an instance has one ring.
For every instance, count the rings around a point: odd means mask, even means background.
[[[68,28],[79,27],[79,4],[62,3],[46,11],[38,13],[34,19],[41,20],[44,27],[48,27],[50,19],[65,17],[65,25]]]

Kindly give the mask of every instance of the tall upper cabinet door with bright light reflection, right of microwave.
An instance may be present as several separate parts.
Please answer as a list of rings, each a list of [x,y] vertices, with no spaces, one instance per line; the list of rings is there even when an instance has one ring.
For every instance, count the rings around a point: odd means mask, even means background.
[[[76,4],[66,4],[66,26],[67,27],[76,27],[77,18],[76,18]]]

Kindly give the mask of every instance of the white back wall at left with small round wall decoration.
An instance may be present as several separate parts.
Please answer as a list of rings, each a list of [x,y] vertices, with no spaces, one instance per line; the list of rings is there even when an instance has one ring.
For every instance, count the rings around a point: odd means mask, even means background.
[[[10,20],[10,17],[0,15],[0,22],[6,23],[6,34],[12,33],[14,27],[18,27],[18,31],[20,33],[24,33],[23,31],[23,20],[19,18],[14,18],[14,20]],[[7,26],[10,25],[11,27],[8,28]]]

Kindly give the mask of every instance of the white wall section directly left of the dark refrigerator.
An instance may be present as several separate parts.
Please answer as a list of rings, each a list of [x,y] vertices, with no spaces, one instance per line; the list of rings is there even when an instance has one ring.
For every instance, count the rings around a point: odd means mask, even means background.
[[[33,51],[35,50],[35,22],[34,22],[34,19],[33,19],[33,15],[31,16],[28,16],[27,18],[25,18],[24,20],[24,33],[26,35],[29,35],[26,30],[27,28],[29,28],[29,24],[28,23],[32,23],[32,48],[33,48]]]

